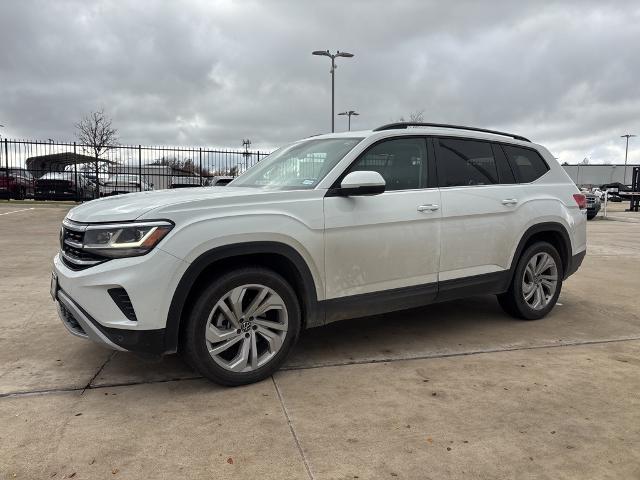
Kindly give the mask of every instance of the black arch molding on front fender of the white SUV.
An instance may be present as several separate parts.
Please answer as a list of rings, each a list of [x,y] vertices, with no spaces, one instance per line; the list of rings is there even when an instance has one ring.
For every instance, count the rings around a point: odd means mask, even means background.
[[[180,279],[173,294],[169,313],[167,314],[167,326],[165,330],[165,352],[175,353],[178,349],[180,334],[180,322],[186,300],[195,282],[202,272],[209,266],[220,260],[232,257],[242,257],[255,254],[276,254],[286,257],[294,265],[296,274],[301,280],[299,293],[301,294],[301,307],[305,313],[306,326],[314,327],[324,324],[324,309],[318,302],[316,286],[309,266],[302,255],[293,247],[279,242],[246,242],[233,245],[224,245],[209,250],[196,258]],[[292,285],[296,288],[298,285]]]

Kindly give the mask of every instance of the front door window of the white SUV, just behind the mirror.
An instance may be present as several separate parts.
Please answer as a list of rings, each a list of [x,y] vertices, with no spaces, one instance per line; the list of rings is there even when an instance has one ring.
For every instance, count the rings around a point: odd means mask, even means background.
[[[380,173],[386,190],[424,188],[427,168],[427,142],[424,138],[397,138],[370,148],[351,166],[349,172],[372,170]]]

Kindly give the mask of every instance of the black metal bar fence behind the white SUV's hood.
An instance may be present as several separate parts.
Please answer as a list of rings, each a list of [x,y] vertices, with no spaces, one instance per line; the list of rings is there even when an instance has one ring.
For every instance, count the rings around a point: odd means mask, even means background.
[[[167,188],[222,185],[269,152],[2,139],[0,197],[75,200]]]

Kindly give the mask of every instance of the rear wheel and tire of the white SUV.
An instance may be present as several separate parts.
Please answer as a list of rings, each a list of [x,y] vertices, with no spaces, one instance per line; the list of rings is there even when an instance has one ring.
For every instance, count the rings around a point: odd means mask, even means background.
[[[540,263],[542,259],[547,263],[542,270],[536,272],[536,268],[543,267]],[[509,290],[498,295],[498,302],[513,317],[538,320],[545,317],[558,301],[563,276],[562,260],[555,247],[547,242],[536,242],[520,256]],[[553,277],[555,287],[552,289],[550,285],[554,283]]]

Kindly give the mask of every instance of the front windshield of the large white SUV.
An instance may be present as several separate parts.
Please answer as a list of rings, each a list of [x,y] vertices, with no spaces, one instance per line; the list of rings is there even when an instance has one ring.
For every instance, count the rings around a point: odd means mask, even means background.
[[[229,183],[230,187],[311,189],[362,138],[306,140],[282,147]]]

